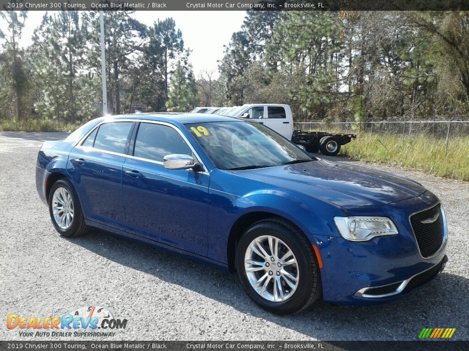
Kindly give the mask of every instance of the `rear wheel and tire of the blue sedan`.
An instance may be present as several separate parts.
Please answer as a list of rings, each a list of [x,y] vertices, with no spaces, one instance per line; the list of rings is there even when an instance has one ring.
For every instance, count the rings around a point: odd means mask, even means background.
[[[55,230],[62,236],[80,236],[88,230],[78,196],[66,179],[59,179],[52,185],[49,214]]]

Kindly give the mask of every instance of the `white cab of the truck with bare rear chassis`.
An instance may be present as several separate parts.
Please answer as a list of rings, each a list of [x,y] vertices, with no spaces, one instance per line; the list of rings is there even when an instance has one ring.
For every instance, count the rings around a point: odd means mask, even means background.
[[[290,106],[284,104],[246,104],[232,111],[232,117],[249,118],[292,139],[293,116]]]

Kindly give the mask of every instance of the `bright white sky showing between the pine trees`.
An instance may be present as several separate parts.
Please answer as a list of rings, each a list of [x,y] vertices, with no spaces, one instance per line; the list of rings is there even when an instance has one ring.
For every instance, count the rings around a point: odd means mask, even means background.
[[[22,46],[31,44],[33,31],[41,23],[44,13],[28,12]],[[204,70],[213,70],[213,78],[217,78],[217,60],[223,58],[223,45],[228,45],[233,32],[240,29],[245,15],[245,11],[136,11],[132,16],[146,25],[172,17],[182,32],[185,46],[192,49],[189,59],[196,78]],[[4,28],[3,23],[0,27]]]

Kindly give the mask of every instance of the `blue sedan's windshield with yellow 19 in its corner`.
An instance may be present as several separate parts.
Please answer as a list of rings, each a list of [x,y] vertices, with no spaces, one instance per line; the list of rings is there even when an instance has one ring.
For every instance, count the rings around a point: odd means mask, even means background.
[[[256,122],[194,123],[186,127],[219,169],[253,169],[316,160]]]

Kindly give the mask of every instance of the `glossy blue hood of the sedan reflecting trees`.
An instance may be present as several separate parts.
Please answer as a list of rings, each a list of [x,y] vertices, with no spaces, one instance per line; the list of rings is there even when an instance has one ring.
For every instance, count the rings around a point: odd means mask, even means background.
[[[324,159],[234,173],[311,195],[342,209],[379,207],[426,191],[419,183],[400,176]]]

